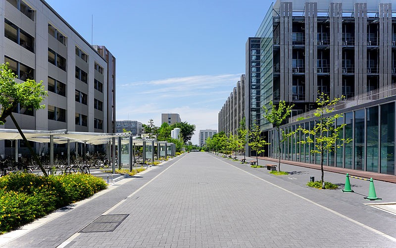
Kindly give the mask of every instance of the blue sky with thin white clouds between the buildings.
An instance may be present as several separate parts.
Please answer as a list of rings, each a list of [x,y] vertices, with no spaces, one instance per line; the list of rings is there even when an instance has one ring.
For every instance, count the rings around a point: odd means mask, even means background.
[[[161,125],[177,113],[218,129],[245,74],[245,46],[269,0],[47,0],[85,40],[116,58],[116,120]],[[93,20],[93,21],[92,21]],[[92,28],[93,27],[93,28]],[[93,31],[93,32],[92,32]]]

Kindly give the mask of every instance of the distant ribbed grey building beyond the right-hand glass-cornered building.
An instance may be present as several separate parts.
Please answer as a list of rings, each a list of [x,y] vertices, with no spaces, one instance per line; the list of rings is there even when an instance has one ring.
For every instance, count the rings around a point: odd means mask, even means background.
[[[239,124],[245,117],[245,75],[237,82],[218,115],[219,131],[237,134]]]

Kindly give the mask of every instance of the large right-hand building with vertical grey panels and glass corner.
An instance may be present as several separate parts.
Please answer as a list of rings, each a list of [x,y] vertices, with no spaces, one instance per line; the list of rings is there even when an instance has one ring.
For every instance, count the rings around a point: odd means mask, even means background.
[[[316,108],[319,92],[350,101],[337,113],[347,124],[342,135],[352,142],[326,155],[325,164],[395,175],[396,6],[391,2],[277,0],[255,37],[248,38],[246,120],[260,124],[276,156],[276,131],[263,118],[270,101],[294,103],[292,116]],[[381,92],[387,92],[383,94]],[[376,99],[371,97],[376,95]],[[352,98],[353,99],[353,98]],[[341,107],[340,107],[341,108]],[[310,128],[315,118],[283,129]],[[383,129],[384,128],[384,129]],[[318,163],[300,133],[288,138],[282,157]],[[274,142],[275,141],[275,142]]]

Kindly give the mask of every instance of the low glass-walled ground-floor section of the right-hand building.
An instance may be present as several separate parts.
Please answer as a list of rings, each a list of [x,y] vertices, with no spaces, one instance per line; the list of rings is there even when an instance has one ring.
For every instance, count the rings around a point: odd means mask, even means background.
[[[393,87],[395,89],[396,86]],[[351,142],[334,152],[325,154],[324,165],[359,171],[375,172],[388,175],[395,174],[395,100],[396,95],[383,99],[354,105],[332,114],[342,114],[336,125],[345,124],[339,133],[341,138],[352,139]],[[364,101],[363,101],[364,102]],[[285,133],[295,131],[298,127],[312,129],[315,118],[308,118],[282,126]],[[309,134],[308,134],[309,135]],[[269,157],[278,157],[277,131],[268,131]],[[320,156],[311,152],[313,143],[300,143],[306,134],[298,131],[282,143],[281,158],[284,160],[320,164]],[[311,138],[314,137],[311,135]]]

